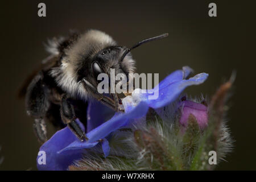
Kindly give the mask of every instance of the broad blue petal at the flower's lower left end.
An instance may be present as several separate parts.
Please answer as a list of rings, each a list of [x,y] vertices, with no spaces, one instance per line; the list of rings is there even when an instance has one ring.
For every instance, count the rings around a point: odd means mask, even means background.
[[[78,120],[77,122],[84,130],[82,123]],[[57,131],[40,147],[39,155],[36,159],[38,169],[67,170],[74,160],[81,159],[84,150],[65,151],[61,154],[57,152],[75,140],[77,140],[77,137],[68,127]]]

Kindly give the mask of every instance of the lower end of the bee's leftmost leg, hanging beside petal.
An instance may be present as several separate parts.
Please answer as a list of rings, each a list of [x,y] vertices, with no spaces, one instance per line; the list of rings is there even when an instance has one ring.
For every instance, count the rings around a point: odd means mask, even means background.
[[[39,143],[43,144],[47,141],[47,130],[46,130],[46,122],[44,119],[39,118],[34,120],[33,130],[38,138]]]

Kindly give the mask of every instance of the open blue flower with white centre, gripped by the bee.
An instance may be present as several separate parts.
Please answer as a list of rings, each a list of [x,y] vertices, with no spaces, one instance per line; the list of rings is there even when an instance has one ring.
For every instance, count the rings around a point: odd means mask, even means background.
[[[84,148],[92,148],[101,144],[102,151],[109,155],[110,147],[108,137],[110,133],[127,126],[136,118],[146,115],[149,107],[154,109],[166,106],[175,101],[183,90],[190,85],[199,85],[207,77],[207,73],[200,73],[192,78],[186,79],[192,69],[183,67],[183,70],[175,71],[167,76],[154,89],[135,89],[131,96],[123,99],[125,113],[113,113],[108,107],[92,102],[88,106],[88,125],[86,136],[88,140],[81,142],[73,135],[68,127],[57,131],[51,139],[40,147],[37,159],[39,170],[65,170],[75,160],[81,159]],[[153,96],[158,96],[151,99]],[[98,112],[100,110],[100,113]],[[79,121],[77,121],[79,122]],[[79,122],[82,126],[82,123]],[[82,126],[84,128],[84,126]],[[43,153],[42,153],[43,151]],[[45,154],[45,161],[42,155]]]

